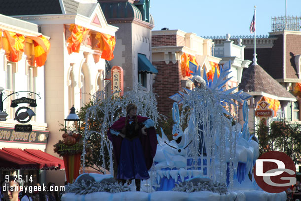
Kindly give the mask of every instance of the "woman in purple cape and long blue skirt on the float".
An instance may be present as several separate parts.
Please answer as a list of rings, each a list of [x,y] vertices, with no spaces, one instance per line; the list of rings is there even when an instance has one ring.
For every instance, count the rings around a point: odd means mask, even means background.
[[[117,179],[123,183],[135,179],[136,190],[140,191],[140,181],[150,178],[148,170],[157,149],[156,131],[151,119],[137,115],[136,105],[129,104],[126,113],[109,128],[107,135],[113,144]]]

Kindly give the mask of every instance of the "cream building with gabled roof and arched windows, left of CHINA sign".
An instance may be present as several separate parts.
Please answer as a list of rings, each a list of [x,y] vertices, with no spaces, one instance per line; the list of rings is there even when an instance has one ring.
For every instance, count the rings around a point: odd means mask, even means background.
[[[50,37],[45,82],[37,84],[44,85],[45,90],[43,118],[49,131],[46,152],[58,156],[53,145],[62,139],[59,123],[64,123],[73,105],[79,111],[90,101],[91,94],[104,90],[107,84],[108,62],[102,58],[104,51],[97,36],[104,34],[113,39],[118,28],[108,25],[96,0],[38,1],[35,6],[25,0],[21,4],[22,11],[3,5],[1,13],[34,23],[41,33]],[[80,37],[76,38],[77,35]],[[64,171],[46,174],[47,182],[61,186],[64,178]]]

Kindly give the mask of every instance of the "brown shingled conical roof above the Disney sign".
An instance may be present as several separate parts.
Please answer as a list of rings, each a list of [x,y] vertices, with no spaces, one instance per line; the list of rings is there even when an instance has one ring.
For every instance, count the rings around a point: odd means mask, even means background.
[[[259,65],[252,65],[244,70],[239,90],[257,93],[263,92],[277,96],[280,100],[281,97],[295,99],[295,96],[288,92]]]

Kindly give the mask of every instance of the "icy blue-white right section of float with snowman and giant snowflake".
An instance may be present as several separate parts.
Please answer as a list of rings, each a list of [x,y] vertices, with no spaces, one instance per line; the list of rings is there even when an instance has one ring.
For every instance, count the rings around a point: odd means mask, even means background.
[[[190,63],[192,75],[200,75],[200,67]],[[209,178],[212,181],[233,186],[234,179],[239,183],[252,175],[253,163],[258,157],[258,144],[248,131],[248,105],[243,104],[244,126],[232,126],[235,118],[226,108],[238,109],[239,102],[249,98],[237,87],[226,90],[224,85],[231,79],[230,61],[220,68],[220,76],[215,71],[213,81],[203,78],[206,88],[184,89],[170,98],[182,104],[181,118],[178,104],[173,105],[173,140],[167,141],[162,131],[158,136],[155,170],[158,190],[171,190],[175,183],[188,178]],[[227,115],[227,117],[225,116]],[[188,127],[180,129],[181,121],[187,117]],[[249,139],[250,138],[250,139]],[[178,150],[178,152],[177,152]]]

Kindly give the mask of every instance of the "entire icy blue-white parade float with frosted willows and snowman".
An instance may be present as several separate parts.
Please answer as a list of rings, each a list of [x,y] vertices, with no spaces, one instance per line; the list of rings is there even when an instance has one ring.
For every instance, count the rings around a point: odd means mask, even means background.
[[[190,63],[192,75],[200,75],[200,68]],[[125,115],[125,107],[134,103],[138,114],[150,117],[158,125],[155,94],[136,88],[112,101],[100,94],[102,104],[95,104],[86,113],[86,120],[97,119],[96,111],[103,111],[100,132],[89,130],[86,124],[84,142],[91,134],[101,136],[101,155],[109,153],[111,175],[82,174],[65,187],[63,201],[285,201],[286,193],[267,193],[256,184],[253,165],[259,156],[258,141],[248,131],[248,94],[236,88],[226,90],[231,78],[230,62],[215,70],[212,80],[204,71],[205,87],[183,91],[171,96],[173,104],[172,140],[161,129],[150,179],[143,181],[141,191],[122,185],[113,178],[112,145],[105,133],[118,117]],[[100,101],[100,99],[97,99]],[[244,124],[241,126],[230,108],[238,110],[243,103]],[[181,111],[179,111],[179,105]],[[115,111],[120,111],[116,115]],[[113,115],[114,114],[114,115]],[[185,129],[182,129],[186,127]],[[85,161],[85,143],[82,160]],[[102,157],[105,160],[105,157]],[[84,164],[83,164],[84,167]]]

